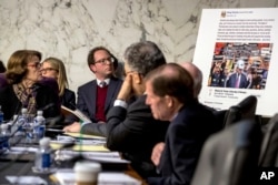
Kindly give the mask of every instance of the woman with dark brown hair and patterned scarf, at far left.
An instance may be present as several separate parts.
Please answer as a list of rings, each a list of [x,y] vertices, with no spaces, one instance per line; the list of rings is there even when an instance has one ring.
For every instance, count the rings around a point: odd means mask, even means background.
[[[28,114],[43,111],[44,117],[60,115],[58,94],[48,85],[39,83],[41,53],[34,50],[18,50],[11,54],[6,71],[8,85],[0,90],[0,105],[4,120],[11,120],[27,107]]]

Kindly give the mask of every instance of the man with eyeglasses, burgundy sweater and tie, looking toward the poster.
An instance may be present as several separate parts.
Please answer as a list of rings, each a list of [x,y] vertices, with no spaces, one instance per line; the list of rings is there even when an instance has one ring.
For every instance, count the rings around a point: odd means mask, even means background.
[[[85,113],[92,123],[79,122],[66,126],[66,132],[82,132],[106,136],[106,114],[113,105],[113,101],[121,88],[122,80],[115,76],[118,60],[103,48],[93,48],[88,54],[88,65],[96,75],[92,80],[78,88],[77,109]]]

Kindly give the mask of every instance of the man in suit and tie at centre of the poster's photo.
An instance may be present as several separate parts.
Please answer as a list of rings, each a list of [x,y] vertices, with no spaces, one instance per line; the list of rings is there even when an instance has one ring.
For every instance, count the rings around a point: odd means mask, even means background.
[[[248,89],[250,86],[247,75],[244,72],[245,61],[237,61],[236,72],[226,80],[226,88]]]

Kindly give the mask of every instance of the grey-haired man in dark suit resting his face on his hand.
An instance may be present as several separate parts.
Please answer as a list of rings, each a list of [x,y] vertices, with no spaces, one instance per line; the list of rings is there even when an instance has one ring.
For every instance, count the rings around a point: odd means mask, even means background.
[[[155,120],[145,104],[145,76],[166,64],[160,49],[150,41],[137,42],[125,52],[126,79],[107,115],[107,147],[119,151],[131,161],[143,177],[156,174],[150,156],[156,143],[165,140],[169,122]],[[136,96],[129,106],[128,101]]]

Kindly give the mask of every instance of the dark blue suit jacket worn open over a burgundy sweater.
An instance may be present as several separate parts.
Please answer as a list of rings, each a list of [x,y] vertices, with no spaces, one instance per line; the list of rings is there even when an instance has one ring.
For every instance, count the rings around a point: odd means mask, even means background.
[[[117,99],[117,95],[120,91],[122,84],[121,79],[111,78],[108,91],[107,91],[107,97],[106,97],[106,104],[105,104],[105,113],[107,114],[109,109],[113,106],[113,102]],[[77,107],[85,113],[92,122],[97,122],[96,120],[96,104],[97,104],[97,80],[92,80],[81,86],[78,88],[77,94]]]

